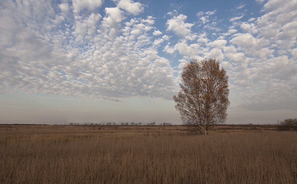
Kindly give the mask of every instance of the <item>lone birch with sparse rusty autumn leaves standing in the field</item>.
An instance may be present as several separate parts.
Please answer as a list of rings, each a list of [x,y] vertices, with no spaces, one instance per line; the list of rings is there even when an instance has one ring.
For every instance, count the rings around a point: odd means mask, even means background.
[[[192,59],[181,72],[180,91],[173,96],[183,123],[193,132],[207,134],[212,125],[223,123],[230,105],[228,75],[215,58]]]

